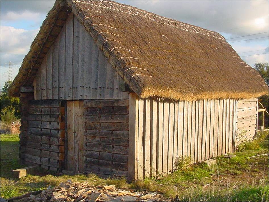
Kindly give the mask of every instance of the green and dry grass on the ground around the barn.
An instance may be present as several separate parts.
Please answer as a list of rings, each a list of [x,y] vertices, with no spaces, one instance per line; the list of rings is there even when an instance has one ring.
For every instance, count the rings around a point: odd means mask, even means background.
[[[38,170],[36,175],[13,179],[11,170],[18,163],[18,135],[1,135],[1,197],[9,198],[30,191],[46,189],[71,179],[88,181],[91,185],[111,185],[121,188],[147,189],[163,192],[164,196],[180,201],[268,201],[268,132],[261,132],[251,142],[239,145],[236,157],[216,157],[216,165],[191,165],[183,158],[178,170],[159,178],[145,178],[132,183],[125,179],[102,179],[96,175],[59,176]]]

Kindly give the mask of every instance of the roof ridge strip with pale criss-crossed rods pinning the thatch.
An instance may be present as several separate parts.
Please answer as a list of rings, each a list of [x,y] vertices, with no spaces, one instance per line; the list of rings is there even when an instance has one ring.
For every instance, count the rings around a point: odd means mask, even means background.
[[[147,11],[137,9],[135,7],[124,6],[124,5],[121,5],[121,4],[118,4],[118,3],[114,3],[113,1],[103,1],[103,0],[101,0],[101,1],[92,1],[92,0],[89,0],[88,2],[85,2],[85,1],[75,0],[75,1],[72,1],[72,2],[85,3],[85,4],[88,4],[88,5],[93,5],[93,6],[101,7],[101,8],[105,8],[105,9],[112,9],[112,10],[115,10],[115,11],[131,14],[131,15],[139,15],[141,17],[148,18],[148,19],[153,20],[155,22],[159,22],[159,23],[162,23],[162,24],[169,25],[169,26],[171,26],[173,28],[176,28],[176,29],[181,29],[181,30],[185,30],[187,32],[193,32],[193,33],[202,34],[202,35],[205,35],[205,36],[210,36],[210,37],[214,37],[214,38],[217,38],[217,39],[225,40],[225,38],[223,36],[221,36],[221,34],[219,34],[217,32],[210,31],[210,30],[198,27],[198,26],[190,25],[190,24],[187,24],[187,23],[184,23],[184,22],[180,22],[178,20],[171,21],[171,20],[173,20],[171,18],[166,18],[166,17],[160,16],[160,15],[157,15],[157,14],[152,14],[152,13],[149,13]],[[98,2],[99,5],[95,4],[94,2]],[[105,5],[105,3],[109,3],[110,6],[108,7],[107,5]],[[116,8],[116,7],[114,7],[114,5],[119,6],[120,8]],[[122,8],[129,9],[128,10],[129,12],[124,11]],[[132,11],[131,9],[135,10],[136,13],[134,11]],[[132,12],[132,13],[130,13],[130,12]],[[143,15],[141,13],[143,13]],[[157,18],[157,20],[155,18]],[[199,32],[199,31],[197,31],[197,29],[199,29],[201,31]]]

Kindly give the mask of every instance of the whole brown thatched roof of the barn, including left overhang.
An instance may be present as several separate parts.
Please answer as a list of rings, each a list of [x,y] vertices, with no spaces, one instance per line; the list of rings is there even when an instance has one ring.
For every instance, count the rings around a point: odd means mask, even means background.
[[[249,98],[268,86],[223,36],[113,1],[56,1],[9,89],[29,86],[68,13],[74,13],[142,98]]]

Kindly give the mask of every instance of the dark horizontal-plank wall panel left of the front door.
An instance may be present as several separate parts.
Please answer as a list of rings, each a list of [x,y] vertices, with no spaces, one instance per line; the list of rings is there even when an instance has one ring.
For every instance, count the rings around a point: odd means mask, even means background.
[[[64,129],[61,101],[30,101],[24,163],[53,171],[64,167]]]

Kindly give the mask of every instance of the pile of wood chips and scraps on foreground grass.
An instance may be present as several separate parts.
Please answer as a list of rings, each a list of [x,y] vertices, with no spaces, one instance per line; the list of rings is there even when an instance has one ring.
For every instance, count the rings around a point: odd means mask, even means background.
[[[168,201],[162,193],[110,186],[90,186],[88,182],[62,182],[59,187],[9,201]]]

